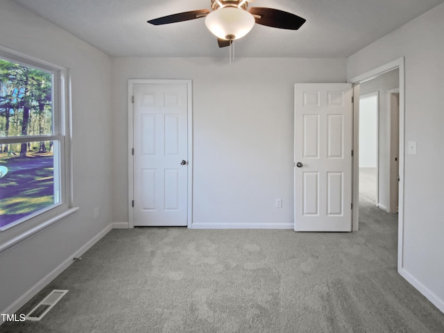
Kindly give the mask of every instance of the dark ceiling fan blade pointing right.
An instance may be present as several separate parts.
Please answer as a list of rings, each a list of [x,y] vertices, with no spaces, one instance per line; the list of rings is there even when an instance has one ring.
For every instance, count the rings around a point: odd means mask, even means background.
[[[248,12],[253,14],[257,24],[273,28],[298,30],[306,21],[298,15],[291,14],[291,12],[274,8],[252,7],[248,9]]]

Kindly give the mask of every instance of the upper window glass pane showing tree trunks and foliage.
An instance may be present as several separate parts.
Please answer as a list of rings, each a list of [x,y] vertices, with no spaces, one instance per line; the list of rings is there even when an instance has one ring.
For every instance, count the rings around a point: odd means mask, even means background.
[[[53,134],[53,74],[0,59],[0,137]]]

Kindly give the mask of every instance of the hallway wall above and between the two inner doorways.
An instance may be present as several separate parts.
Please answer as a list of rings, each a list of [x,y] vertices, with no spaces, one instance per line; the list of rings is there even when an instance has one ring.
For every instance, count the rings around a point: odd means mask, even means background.
[[[391,162],[391,114],[388,110],[387,91],[398,88],[400,71],[393,69],[373,80],[361,83],[361,96],[373,92],[378,93],[378,205],[390,210],[390,162]],[[359,117],[361,111],[359,111]],[[359,119],[361,122],[361,119]],[[359,148],[359,164],[361,164],[361,148]]]

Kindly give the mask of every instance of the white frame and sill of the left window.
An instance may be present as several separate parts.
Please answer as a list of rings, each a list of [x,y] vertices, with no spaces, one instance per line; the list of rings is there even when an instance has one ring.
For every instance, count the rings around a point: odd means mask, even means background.
[[[11,225],[0,231],[0,253],[31,235],[64,219],[78,210],[73,201],[73,177],[71,157],[71,78],[69,69],[40,60],[33,56],[0,46],[0,58],[20,65],[42,69],[53,74],[53,134],[44,136],[44,141],[60,142],[60,155],[54,153],[54,164],[58,166],[60,180],[60,201],[21,223]],[[0,144],[41,141],[40,136],[3,137]],[[56,148],[54,148],[56,151]],[[58,157],[58,158],[56,158]],[[56,172],[56,167],[54,172]],[[55,181],[56,181],[56,177]]]

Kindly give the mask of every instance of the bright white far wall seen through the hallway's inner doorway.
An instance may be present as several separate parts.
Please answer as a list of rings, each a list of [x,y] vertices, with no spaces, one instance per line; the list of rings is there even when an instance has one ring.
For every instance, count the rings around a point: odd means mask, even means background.
[[[359,99],[359,167],[377,167],[377,95]]]

